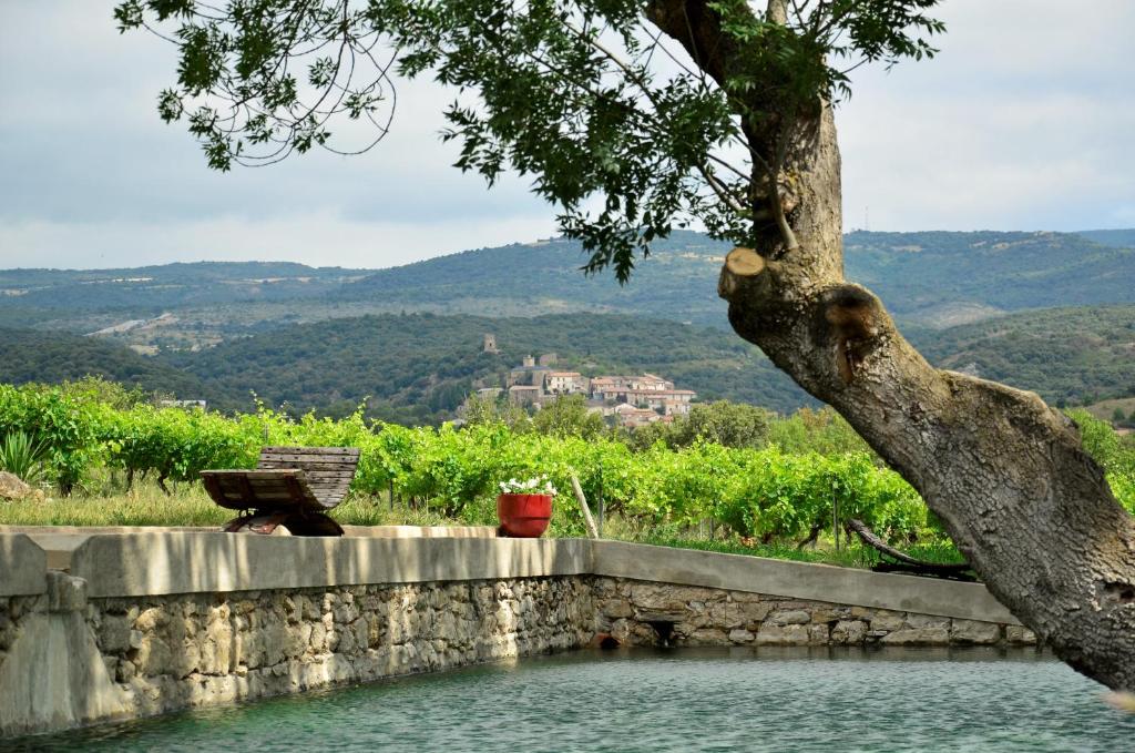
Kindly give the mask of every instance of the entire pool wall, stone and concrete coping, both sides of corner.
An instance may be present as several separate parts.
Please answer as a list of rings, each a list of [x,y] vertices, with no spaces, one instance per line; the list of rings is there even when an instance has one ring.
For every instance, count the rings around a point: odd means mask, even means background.
[[[0,534],[0,736],[604,639],[1035,643],[980,584],[620,542]]]

